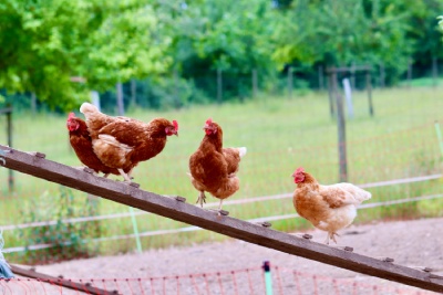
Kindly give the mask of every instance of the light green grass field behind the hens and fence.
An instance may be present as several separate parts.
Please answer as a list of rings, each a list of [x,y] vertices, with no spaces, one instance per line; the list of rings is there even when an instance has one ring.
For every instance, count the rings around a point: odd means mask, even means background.
[[[433,124],[443,117],[442,93],[443,88],[374,91],[374,117],[369,116],[367,94],[354,93],[354,118],[347,119],[349,181],[365,183],[441,172],[442,155]],[[179,137],[171,137],[159,156],[135,169],[135,181],[144,190],[159,194],[179,194],[186,197],[189,203],[195,202],[197,191],[186,175],[187,162],[204,136],[202,127],[208,117],[224,128],[226,147],[248,148],[248,155],[240,165],[240,190],[231,200],[293,191],[295,185],[290,175],[299,166],[312,172],[320,182],[332,183],[339,179],[336,119],[329,115],[326,93],[310,93],[292,99],[262,95],[245,104],[195,106],[168,112],[135,110],[126,115],[142,120],[164,116],[179,123]],[[1,125],[2,119],[0,118]],[[75,154],[69,148],[64,116],[16,114],[13,124],[14,148],[41,151],[50,160],[80,166]],[[6,143],[4,130],[0,130],[0,143]],[[7,212],[0,214],[0,224],[29,221],[32,210],[43,208],[28,208],[27,204],[31,199],[43,194],[53,198],[54,207],[58,206],[58,185],[16,172],[17,190],[9,194],[7,177],[7,170],[0,169],[0,207],[1,212]],[[371,201],[442,193],[441,187],[441,181],[433,180],[374,188],[370,189],[373,193]],[[79,202],[84,202],[85,193],[74,191],[74,196]],[[217,200],[209,197],[209,202],[212,201]],[[442,204],[441,200],[434,200],[364,210],[356,222],[439,215],[441,210],[435,208],[441,208]],[[224,209],[239,219],[295,212],[290,199],[226,206]],[[127,211],[127,207],[101,200],[97,214]],[[55,218],[48,215],[45,220]],[[153,214],[140,215],[137,222],[142,232],[186,226]],[[132,233],[128,218],[102,221],[100,224],[102,236]],[[274,229],[284,231],[307,226],[309,224],[302,220],[282,220],[272,224]],[[24,244],[25,241],[18,232],[4,233],[7,247]],[[219,234],[198,231],[143,238],[142,242],[143,247],[147,249],[222,239],[224,238]],[[99,247],[99,253],[109,254],[132,251],[135,242],[112,241],[95,246]]]

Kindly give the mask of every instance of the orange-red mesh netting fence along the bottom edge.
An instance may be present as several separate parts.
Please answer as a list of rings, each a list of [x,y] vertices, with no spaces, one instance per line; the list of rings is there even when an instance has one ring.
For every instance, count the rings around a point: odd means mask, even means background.
[[[2,295],[103,294],[103,295],[431,295],[436,294],[389,281],[359,282],[356,277],[334,278],[270,266],[215,273],[132,278],[27,278],[0,281]],[[63,284],[68,287],[62,286]]]

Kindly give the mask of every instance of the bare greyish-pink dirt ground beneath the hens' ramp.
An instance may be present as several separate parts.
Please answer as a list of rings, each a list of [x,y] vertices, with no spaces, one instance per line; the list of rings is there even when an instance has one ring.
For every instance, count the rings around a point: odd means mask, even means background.
[[[326,233],[308,231],[315,242],[323,242]],[[443,271],[443,218],[414,221],[378,222],[352,225],[341,231],[339,245],[348,245],[372,257],[392,257],[395,264],[427,266]],[[272,265],[334,278],[352,278],[368,284],[391,284],[388,281],[309,261],[243,241],[168,247],[116,256],[78,260],[37,266],[38,272],[71,278],[153,277],[214,273],[259,267],[268,260]],[[396,284],[396,286],[400,286]]]

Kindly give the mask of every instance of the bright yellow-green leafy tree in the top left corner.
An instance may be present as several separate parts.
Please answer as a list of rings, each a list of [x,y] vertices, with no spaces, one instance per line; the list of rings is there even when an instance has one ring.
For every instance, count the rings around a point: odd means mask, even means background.
[[[4,0],[0,3],[0,88],[31,92],[70,109],[131,77],[158,73],[171,38],[157,33],[152,1]],[[86,83],[72,83],[82,76]]]

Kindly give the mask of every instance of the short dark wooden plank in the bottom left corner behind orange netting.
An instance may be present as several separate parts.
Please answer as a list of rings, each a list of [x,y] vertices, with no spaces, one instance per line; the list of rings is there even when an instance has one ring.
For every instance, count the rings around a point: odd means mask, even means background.
[[[81,284],[81,283],[72,282],[71,280],[64,280],[62,277],[55,277],[55,276],[38,273],[33,270],[25,270],[23,267],[19,267],[13,264],[11,264],[10,266],[11,266],[12,272],[17,275],[35,278],[41,282],[47,282],[48,284],[51,284],[51,285],[63,286],[63,287],[72,288],[72,289],[75,289],[75,291],[79,291],[82,293],[93,294],[93,295],[109,295],[109,294],[119,295],[119,294],[121,294],[115,289],[106,291],[106,289],[93,287],[93,286],[91,286],[90,283]]]

